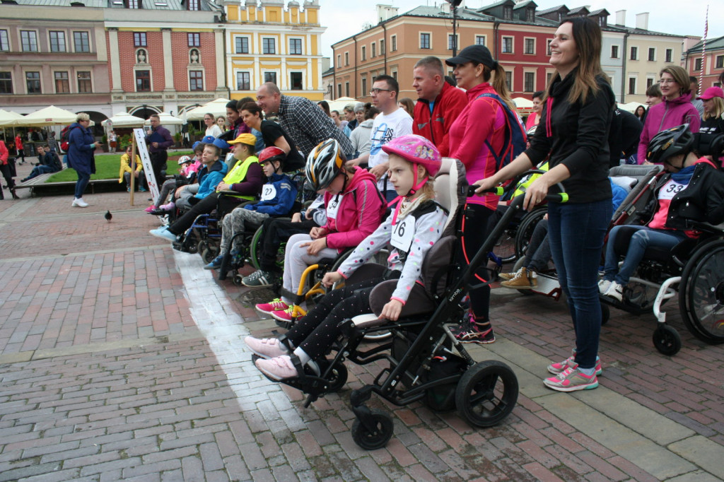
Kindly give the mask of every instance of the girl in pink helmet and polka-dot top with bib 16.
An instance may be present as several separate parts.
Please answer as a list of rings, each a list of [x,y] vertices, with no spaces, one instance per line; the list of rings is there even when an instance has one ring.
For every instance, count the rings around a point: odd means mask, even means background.
[[[434,202],[432,177],[441,165],[437,148],[418,135],[404,135],[382,146],[390,154],[390,181],[400,196],[393,211],[375,231],[364,239],[336,272],[324,275],[324,284],[332,286],[343,279],[348,283],[325,295],[284,337],[245,339],[258,355],[257,368],[273,380],[291,379],[308,362],[327,353],[340,336],[339,324],[359,313],[369,313],[370,293],[376,285],[397,279],[380,318],[396,321],[434,310],[432,300],[422,286],[421,268],[425,254],[439,240],[447,213]],[[376,276],[350,284],[350,276],[359,271],[374,253],[391,246],[386,276]],[[370,268],[371,265],[364,266]],[[315,365],[312,364],[312,369]]]

